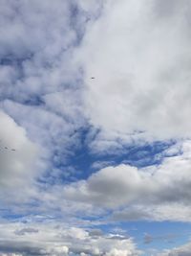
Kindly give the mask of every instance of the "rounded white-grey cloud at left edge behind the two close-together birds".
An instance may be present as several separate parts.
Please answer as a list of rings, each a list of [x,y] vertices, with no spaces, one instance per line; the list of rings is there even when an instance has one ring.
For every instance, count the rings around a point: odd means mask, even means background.
[[[5,195],[3,196],[5,191],[11,193],[12,198],[13,191],[23,191],[30,186],[31,188],[26,190],[25,196],[27,196],[32,193],[34,178],[42,171],[40,149],[30,141],[26,130],[18,126],[3,111],[0,111],[0,122],[1,199],[5,199]],[[22,195],[23,193],[19,193],[24,199]]]

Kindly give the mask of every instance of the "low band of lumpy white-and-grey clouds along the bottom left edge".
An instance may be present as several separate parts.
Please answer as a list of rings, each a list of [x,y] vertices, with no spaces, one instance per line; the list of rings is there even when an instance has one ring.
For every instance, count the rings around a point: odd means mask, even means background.
[[[4,237],[0,240],[0,252],[24,255],[131,255],[138,256],[140,251],[132,238],[104,234],[80,227],[67,227],[67,223],[58,221],[43,221],[41,223],[6,223]],[[14,230],[32,230],[18,236]],[[94,233],[94,234],[93,234]],[[7,253],[7,254],[6,254]]]

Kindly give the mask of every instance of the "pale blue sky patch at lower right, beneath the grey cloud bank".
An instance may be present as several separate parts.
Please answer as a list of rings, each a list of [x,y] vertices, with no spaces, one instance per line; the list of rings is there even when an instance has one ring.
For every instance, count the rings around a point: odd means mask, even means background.
[[[175,221],[125,221],[97,225],[104,233],[118,233],[135,238],[138,249],[147,251],[150,248],[161,251],[186,244],[191,235],[191,223]],[[150,236],[145,243],[145,235]],[[148,254],[143,254],[148,255]]]

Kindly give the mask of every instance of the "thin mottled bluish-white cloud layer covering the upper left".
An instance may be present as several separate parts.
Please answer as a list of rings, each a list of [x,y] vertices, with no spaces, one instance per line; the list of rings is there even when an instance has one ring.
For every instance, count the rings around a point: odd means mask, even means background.
[[[51,169],[65,163],[85,126],[74,50],[88,12],[60,0],[2,1],[0,12],[0,106],[45,149]]]

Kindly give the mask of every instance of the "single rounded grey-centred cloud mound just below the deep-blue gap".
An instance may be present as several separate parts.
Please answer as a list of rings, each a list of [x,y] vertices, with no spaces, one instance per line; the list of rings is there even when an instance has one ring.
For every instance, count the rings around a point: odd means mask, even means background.
[[[66,186],[64,195],[66,198],[117,207],[137,197],[138,191],[141,194],[144,189],[142,183],[136,168],[125,165],[107,167],[90,176],[87,181]]]

